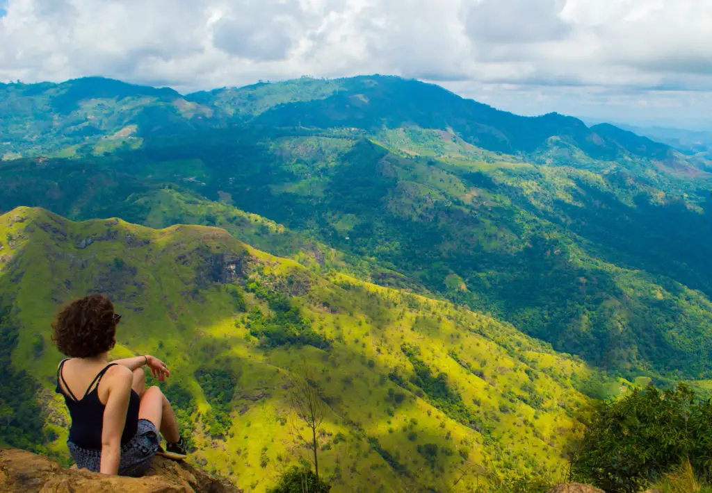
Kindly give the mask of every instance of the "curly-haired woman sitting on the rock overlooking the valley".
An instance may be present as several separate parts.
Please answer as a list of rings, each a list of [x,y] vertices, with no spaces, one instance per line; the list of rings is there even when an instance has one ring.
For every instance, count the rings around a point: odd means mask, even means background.
[[[157,453],[182,459],[186,450],[167,398],[158,387],[145,388],[142,366],[159,381],[169,376],[167,366],[149,355],[108,362],[120,320],[105,295],[77,299],[62,309],[52,324],[52,339],[69,358],[59,364],[56,391],[72,417],[67,445],[77,466],[137,477]]]

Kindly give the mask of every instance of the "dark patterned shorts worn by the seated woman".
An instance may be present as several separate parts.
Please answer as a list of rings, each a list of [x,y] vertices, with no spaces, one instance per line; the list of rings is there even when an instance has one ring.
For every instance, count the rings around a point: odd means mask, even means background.
[[[99,472],[101,450],[89,450],[67,442],[69,452],[77,467]],[[121,447],[119,475],[140,477],[151,467],[151,460],[158,452],[160,438],[158,430],[149,420],[138,420],[136,435]]]

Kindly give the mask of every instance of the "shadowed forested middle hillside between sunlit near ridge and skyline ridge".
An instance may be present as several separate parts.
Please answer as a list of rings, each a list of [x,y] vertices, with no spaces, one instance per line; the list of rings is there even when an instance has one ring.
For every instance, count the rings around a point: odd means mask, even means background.
[[[435,130],[381,137],[210,131],[6,161],[0,209],[221,226],[320,272],[490,312],[627,378],[709,378],[703,178],[537,166]]]

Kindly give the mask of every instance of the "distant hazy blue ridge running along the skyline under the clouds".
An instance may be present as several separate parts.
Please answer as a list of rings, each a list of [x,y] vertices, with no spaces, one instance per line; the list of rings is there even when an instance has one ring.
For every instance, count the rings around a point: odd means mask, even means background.
[[[76,127],[77,118],[85,118],[87,109],[81,107],[88,101],[111,100],[115,105],[131,97],[148,99],[125,107],[120,105],[110,120],[100,112],[93,112],[90,127],[95,129],[90,135],[112,134],[129,124],[138,124],[138,134],[148,134],[156,127],[162,132],[183,132],[231,124],[347,127],[365,131],[416,125],[451,129],[477,147],[506,154],[556,149],[558,144],[553,138],[581,149],[593,159],[612,160],[624,155],[668,159],[674,154],[674,149],[666,144],[628,134],[609,124],[589,128],[575,117],[558,113],[538,117],[515,115],[465,99],[438,85],[392,75],[333,80],[300,78],[189,95],[170,88],[100,77],[60,84],[4,85],[0,87],[0,116],[6,115],[9,123],[0,124],[0,134],[7,136],[2,140],[23,147],[21,141],[32,138],[26,132],[27,119],[36,118],[37,113],[27,112],[23,116],[22,111],[16,110],[27,105],[39,107],[46,97],[49,115],[55,113],[58,117],[53,124],[58,137],[70,137],[75,132],[68,127]],[[60,128],[56,128],[58,125]],[[87,132],[84,130],[80,135],[86,136]]]

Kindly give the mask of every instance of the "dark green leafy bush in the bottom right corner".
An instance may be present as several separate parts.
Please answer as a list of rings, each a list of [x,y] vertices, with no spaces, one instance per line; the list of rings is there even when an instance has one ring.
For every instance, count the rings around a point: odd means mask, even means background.
[[[573,460],[575,477],[612,493],[634,493],[689,459],[712,479],[712,401],[684,384],[634,390],[602,405]]]

